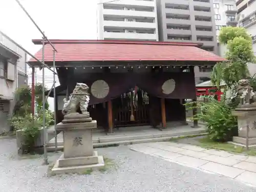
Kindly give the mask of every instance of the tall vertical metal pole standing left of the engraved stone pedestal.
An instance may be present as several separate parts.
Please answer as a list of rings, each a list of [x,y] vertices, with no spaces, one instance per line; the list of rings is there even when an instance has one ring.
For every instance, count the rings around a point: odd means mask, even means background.
[[[45,37],[42,37],[42,62],[45,63]],[[42,66],[42,127],[44,129],[44,163],[48,165],[45,104],[45,66]]]

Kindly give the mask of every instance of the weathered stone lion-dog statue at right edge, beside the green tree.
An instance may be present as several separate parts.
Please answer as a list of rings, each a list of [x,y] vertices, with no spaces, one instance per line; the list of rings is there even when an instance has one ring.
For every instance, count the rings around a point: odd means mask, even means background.
[[[250,80],[241,79],[238,81],[238,96],[240,99],[240,103],[236,110],[255,110],[256,108],[256,95],[250,86]],[[254,109],[253,109],[254,108]],[[250,111],[250,110],[249,110]]]

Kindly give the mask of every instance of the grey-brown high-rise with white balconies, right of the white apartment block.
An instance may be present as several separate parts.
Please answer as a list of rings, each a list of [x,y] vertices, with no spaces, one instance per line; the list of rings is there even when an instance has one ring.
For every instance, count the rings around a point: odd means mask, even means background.
[[[198,42],[217,53],[212,0],[157,0],[159,40]]]

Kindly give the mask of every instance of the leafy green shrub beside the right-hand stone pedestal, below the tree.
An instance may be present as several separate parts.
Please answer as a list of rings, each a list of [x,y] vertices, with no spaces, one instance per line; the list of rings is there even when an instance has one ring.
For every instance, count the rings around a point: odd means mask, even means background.
[[[230,141],[233,136],[238,135],[237,117],[232,116],[233,110],[230,104],[224,100],[217,101],[208,97],[208,102],[197,102],[197,108],[201,109],[196,117],[206,123],[207,132],[213,141]],[[193,108],[193,102],[185,104],[187,108]]]

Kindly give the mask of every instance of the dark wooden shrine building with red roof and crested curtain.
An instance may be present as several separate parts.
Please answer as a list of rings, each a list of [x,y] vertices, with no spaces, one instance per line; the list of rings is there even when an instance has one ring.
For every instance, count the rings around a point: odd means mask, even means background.
[[[42,45],[41,39],[32,41]],[[194,67],[212,68],[225,60],[189,42],[50,41],[58,51],[57,123],[63,119],[63,99],[82,82],[90,87],[90,116],[97,120],[98,129],[109,133],[125,126],[185,124],[184,101],[197,97]],[[35,57],[41,60],[42,50]],[[28,63],[39,67],[33,58]],[[49,44],[45,45],[45,63],[53,66]]]

